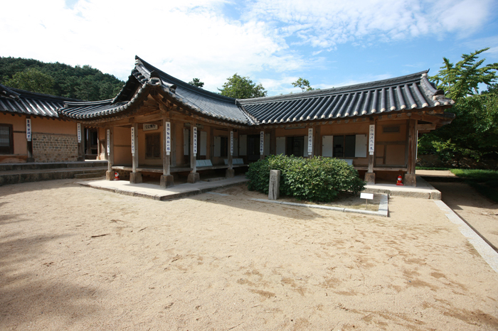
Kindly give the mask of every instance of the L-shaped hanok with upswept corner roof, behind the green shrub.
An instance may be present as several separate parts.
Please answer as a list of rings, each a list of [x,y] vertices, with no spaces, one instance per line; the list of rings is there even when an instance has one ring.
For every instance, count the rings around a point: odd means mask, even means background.
[[[418,134],[448,124],[451,107],[427,71],[388,80],[256,99],[233,99],[182,82],[136,58],[132,75],[114,98],[65,102],[61,118],[98,129],[107,178],[129,171],[189,173],[234,168],[270,154],[344,159],[367,182],[376,178],[415,185]]]

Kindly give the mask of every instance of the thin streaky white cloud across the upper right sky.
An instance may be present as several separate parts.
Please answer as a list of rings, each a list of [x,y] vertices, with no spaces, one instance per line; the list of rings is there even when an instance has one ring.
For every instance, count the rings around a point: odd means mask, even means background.
[[[248,19],[264,18],[315,48],[365,36],[383,41],[455,32],[468,36],[491,15],[491,0],[260,0]]]

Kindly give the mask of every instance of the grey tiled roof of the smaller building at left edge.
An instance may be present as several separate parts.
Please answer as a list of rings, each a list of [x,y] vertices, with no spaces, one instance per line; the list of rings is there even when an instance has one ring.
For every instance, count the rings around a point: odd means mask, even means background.
[[[55,97],[0,85],[0,112],[58,117],[57,109],[64,107],[66,101],[76,101],[76,99]]]

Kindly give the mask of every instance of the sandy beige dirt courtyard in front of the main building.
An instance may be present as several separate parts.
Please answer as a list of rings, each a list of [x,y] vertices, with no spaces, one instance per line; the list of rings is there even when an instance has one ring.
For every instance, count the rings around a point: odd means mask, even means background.
[[[0,188],[0,330],[497,330],[498,273],[431,200],[390,217]]]

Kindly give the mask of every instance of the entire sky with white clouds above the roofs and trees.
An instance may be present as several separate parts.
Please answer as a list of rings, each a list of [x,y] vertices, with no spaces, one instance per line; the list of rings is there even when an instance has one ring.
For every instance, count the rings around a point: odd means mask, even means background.
[[[498,62],[498,2],[489,0],[8,1],[1,56],[91,65],[126,80],[139,55],[216,92],[237,72],[268,95],[339,87],[430,69],[489,47]]]

